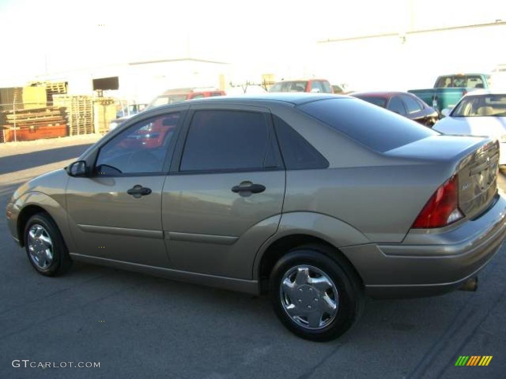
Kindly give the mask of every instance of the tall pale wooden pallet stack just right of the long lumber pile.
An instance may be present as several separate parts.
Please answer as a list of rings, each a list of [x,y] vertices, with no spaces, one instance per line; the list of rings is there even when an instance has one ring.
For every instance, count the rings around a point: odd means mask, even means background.
[[[69,135],[94,133],[93,97],[53,95],[53,105],[65,108]]]

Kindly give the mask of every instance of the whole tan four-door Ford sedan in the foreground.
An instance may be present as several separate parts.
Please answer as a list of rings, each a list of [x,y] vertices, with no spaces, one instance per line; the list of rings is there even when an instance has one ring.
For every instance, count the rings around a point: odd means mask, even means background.
[[[476,290],[506,233],[498,149],[339,95],[195,100],[21,185],[7,225],[42,275],[75,260],[268,293],[325,341],[365,294]]]

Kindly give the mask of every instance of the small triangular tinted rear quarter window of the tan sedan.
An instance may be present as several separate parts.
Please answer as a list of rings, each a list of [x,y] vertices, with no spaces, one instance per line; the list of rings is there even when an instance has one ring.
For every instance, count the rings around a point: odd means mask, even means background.
[[[327,160],[302,135],[278,116],[273,118],[283,161],[288,170],[328,167]]]

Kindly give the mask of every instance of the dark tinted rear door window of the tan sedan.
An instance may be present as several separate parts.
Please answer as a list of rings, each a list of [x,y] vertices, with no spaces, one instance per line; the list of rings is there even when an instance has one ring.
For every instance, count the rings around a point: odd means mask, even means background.
[[[262,169],[272,157],[264,114],[197,111],[186,137],[181,171]]]

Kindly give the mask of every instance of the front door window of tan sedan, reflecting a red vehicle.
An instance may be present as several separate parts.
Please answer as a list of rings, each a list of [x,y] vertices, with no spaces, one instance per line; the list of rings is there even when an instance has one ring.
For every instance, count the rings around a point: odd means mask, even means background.
[[[161,172],[179,115],[144,120],[116,135],[100,149],[97,174]]]

